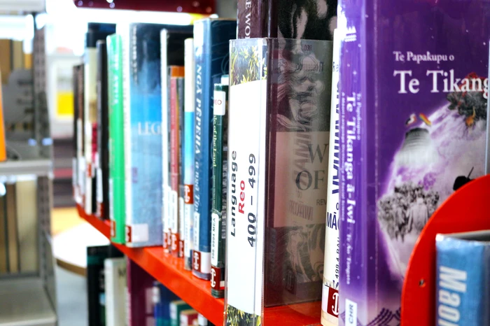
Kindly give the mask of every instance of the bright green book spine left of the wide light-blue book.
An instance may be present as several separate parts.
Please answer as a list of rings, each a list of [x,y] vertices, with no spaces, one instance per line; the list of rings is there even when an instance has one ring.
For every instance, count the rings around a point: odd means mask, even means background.
[[[109,83],[109,218],[111,241],[125,243],[123,55],[120,35],[107,36]]]

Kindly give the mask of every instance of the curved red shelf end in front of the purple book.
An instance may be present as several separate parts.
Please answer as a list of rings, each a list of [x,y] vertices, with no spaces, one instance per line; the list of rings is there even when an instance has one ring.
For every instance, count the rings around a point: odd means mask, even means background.
[[[435,236],[490,229],[490,175],[444,201],[420,234],[402,291],[402,326],[435,325]]]

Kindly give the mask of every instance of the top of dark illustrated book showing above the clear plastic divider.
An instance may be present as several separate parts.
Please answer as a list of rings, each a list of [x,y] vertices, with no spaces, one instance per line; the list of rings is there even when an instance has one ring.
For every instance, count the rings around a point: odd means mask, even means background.
[[[332,40],[337,0],[238,0],[237,38]]]

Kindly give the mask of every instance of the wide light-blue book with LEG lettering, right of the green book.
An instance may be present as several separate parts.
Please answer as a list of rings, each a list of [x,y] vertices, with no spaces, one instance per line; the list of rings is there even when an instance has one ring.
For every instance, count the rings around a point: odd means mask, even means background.
[[[160,24],[118,24],[123,39],[126,243],[162,245]]]

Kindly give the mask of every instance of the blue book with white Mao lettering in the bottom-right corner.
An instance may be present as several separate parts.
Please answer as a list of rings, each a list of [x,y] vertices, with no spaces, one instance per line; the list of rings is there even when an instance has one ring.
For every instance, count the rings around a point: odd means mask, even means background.
[[[490,231],[437,234],[436,325],[490,325]]]

